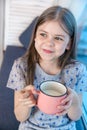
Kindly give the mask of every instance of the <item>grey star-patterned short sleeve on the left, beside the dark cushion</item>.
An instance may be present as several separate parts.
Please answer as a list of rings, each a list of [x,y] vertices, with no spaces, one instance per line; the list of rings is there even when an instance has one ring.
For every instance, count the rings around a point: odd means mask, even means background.
[[[20,63],[18,60],[15,60],[8,78],[7,87],[14,90],[20,90],[25,86],[26,80],[22,63]]]

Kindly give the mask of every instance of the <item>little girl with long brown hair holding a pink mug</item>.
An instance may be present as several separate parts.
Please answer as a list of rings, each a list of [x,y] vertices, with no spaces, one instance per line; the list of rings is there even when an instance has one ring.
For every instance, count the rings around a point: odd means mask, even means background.
[[[53,6],[38,18],[26,55],[15,60],[7,87],[15,90],[14,113],[19,130],[76,130],[82,115],[82,91],[87,91],[86,67],[75,60],[76,21],[66,8]],[[68,88],[59,113],[45,114],[31,90],[54,80]]]

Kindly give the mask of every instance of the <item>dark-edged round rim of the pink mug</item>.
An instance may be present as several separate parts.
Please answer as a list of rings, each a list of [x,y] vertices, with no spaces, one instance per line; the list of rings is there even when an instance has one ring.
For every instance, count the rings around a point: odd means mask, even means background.
[[[54,95],[47,94],[47,93],[45,93],[45,92],[41,89],[41,85],[42,85],[43,83],[46,83],[46,82],[56,82],[56,83],[59,83],[59,84],[63,85],[63,86],[66,88],[66,92],[65,92],[64,94],[59,95],[59,96],[54,96]],[[64,84],[62,84],[61,82],[57,82],[57,81],[55,81],[55,80],[46,80],[46,81],[41,82],[41,84],[40,84],[40,91],[41,91],[43,94],[45,94],[45,95],[47,95],[47,96],[50,96],[50,97],[62,97],[62,96],[64,96],[64,95],[67,95],[67,93],[68,93],[67,87],[66,87]]]

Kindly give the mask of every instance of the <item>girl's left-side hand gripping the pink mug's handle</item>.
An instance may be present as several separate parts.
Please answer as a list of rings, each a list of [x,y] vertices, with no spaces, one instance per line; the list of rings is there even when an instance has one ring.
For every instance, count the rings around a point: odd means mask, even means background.
[[[26,107],[33,107],[36,105],[36,99],[32,93],[33,87],[31,85],[25,87],[19,92],[19,102]]]

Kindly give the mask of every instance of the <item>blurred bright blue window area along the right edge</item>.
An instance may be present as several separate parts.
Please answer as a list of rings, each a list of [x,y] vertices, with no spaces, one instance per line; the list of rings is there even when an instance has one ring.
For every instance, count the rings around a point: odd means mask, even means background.
[[[77,59],[87,66],[87,3],[80,17],[78,24],[78,55]],[[85,129],[87,129],[87,92],[83,93],[83,116],[82,121]]]

